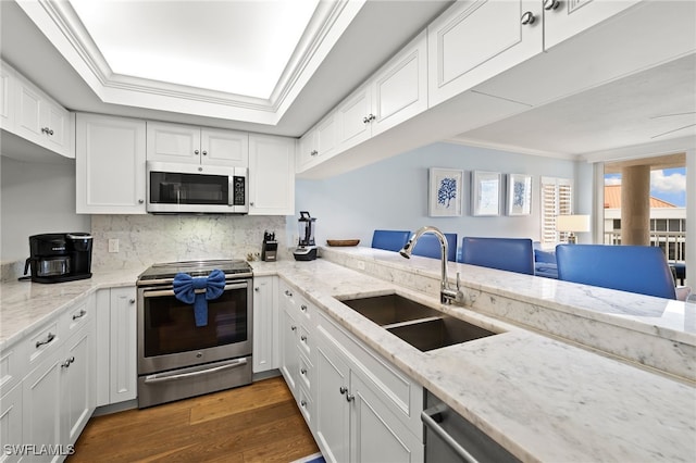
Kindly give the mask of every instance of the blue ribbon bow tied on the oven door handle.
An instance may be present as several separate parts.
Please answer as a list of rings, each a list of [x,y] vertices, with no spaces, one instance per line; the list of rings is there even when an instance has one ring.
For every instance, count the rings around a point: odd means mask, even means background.
[[[194,304],[197,327],[208,325],[208,301],[217,299],[224,290],[225,274],[217,268],[207,277],[192,277],[187,273],[177,273],[174,277],[174,296],[186,304]]]

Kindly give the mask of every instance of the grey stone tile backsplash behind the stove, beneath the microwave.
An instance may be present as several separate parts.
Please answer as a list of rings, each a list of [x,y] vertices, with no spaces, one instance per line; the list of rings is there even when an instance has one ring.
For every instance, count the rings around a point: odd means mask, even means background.
[[[92,272],[248,254],[258,260],[264,230],[275,232],[278,259],[293,259],[285,223],[285,216],[92,215]],[[110,239],[119,240],[119,252],[109,252]]]

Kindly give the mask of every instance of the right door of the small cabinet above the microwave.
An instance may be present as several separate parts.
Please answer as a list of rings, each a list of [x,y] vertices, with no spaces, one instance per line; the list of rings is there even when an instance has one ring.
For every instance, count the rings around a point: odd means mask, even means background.
[[[246,132],[201,129],[201,163],[247,167],[249,134]]]

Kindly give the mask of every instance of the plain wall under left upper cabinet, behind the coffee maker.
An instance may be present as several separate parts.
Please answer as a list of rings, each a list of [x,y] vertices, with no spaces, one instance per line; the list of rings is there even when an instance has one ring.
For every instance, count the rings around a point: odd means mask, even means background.
[[[90,216],[75,213],[74,162],[0,160],[0,261],[28,258],[30,235],[90,230]]]

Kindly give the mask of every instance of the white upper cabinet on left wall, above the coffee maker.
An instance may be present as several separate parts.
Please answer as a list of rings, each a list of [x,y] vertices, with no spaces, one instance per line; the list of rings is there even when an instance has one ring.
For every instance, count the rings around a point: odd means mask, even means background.
[[[0,79],[0,127],[65,158],[75,158],[71,113],[4,63]]]

